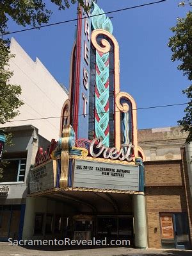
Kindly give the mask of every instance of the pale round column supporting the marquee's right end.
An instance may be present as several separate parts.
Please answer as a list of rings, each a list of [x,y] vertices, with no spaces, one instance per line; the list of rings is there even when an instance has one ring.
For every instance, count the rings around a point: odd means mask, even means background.
[[[133,195],[134,234],[136,248],[147,248],[147,225],[145,214],[145,196]]]

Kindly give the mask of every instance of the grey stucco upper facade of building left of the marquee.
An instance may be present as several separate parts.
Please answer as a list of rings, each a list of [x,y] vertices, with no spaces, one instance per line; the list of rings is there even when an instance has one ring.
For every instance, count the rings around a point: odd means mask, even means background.
[[[38,130],[33,126],[17,126],[10,129],[9,132],[13,133],[13,146],[5,146],[4,151],[8,151],[8,153],[26,151],[28,153],[26,173],[24,182],[1,182],[0,179],[0,187],[9,187],[8,196],[6,196],[6,198],[0,197],[0,205],[2,203],[4,204],[4,202],[10,205],[13,203],[20,204],[25,202],[25,198],[28,194],[28,173],[31,164],[34,164],[35,162],[36,151],[38,147],[44,147],[46,149],[50,143],[46,139],[40,137],[40,135],[38,135]],[[7,171],[9,170],[7,169]]]

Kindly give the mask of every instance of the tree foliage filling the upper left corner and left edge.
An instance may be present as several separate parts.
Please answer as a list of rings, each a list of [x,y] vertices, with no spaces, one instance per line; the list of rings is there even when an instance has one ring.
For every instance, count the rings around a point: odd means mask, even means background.
[[[56,4],[59,10],[65,10],[70,7],[70,3],[79,3],[85,10],[88,7],[84,6],[83,0],[49,0]],[[13,55],[10,53],[10,40],[4,39],[3,35],[8,32],[8,20],[13,19],[21,26],[31,25],[40,26],[49,22],[51,10],[47,10],[46,3],[48,0],[1,0],[0,1],[0,31],[2,38],[0,39],[0,86],[1,86],[1,120],[6,123],[19,114],[18,108],[23,104],[19,99],[21,89],[19,85],[11,85],[9,83],[13,72],[8,69],[8,63]]]

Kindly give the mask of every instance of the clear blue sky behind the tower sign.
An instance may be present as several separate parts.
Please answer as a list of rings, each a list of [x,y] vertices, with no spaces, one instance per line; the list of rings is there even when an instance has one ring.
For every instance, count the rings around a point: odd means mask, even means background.
[[[76,18],[76,5],[58,11],[51,1],[45,2],[53,12],[50,23]],[[150,2],[98,0],[97,4],[108,12]],[[189,7],[178,8],[179,3],[169,0],[109,15],[113,17],[113,35],[120,46],[120,87],[134,97],[138,108],[187,102],[181,91],[188,87],[189,81],[177,71],[177,63],[171,61],[172,51],[167,46],[172,36],[170,27],[189,10]],[[18,29],[22,27],[9,22],[9,31]],[[12,36],[33,60],[38,56],[56,80],[68,88],[75,30],[76,22],[70,22]],[[175,126],[184,115],[184,107],[138,110],[138,128]]]

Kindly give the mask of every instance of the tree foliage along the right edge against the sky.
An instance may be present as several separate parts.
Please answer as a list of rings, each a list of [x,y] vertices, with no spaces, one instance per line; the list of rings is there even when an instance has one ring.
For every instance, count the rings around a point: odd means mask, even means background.
[[[192,6],[192,1],[181,2],[180,6]],[[173,37],[170,37],[168,46],[172,50],[172,61],[179,61],[177,69],[183,72],[188,80],[192,80],[192,12],[186,14],[184,18],[177,18],[175,27],[170,28],[173,31]],[[186,143],[192,141],[192,85],[190,84],[186,90],[182,91],[188,98],[188,106],[185,108],[184,117],[178,121],[182,126],[182,132],[189,132]]]

